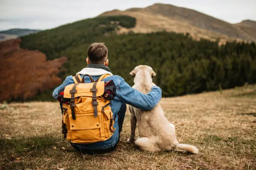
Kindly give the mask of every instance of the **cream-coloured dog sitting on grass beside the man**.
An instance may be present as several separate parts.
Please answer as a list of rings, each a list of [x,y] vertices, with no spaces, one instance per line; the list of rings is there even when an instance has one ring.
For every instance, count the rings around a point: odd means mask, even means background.
[[[147,65],[139,65],[130,72],[134,77],[133,88],[147,94],[154,83],[152,77],[156,75],[153,69]],[[129,106],[131,112],[131,137],[128,143],[134,143],[141,150],[152,152],[175,150],[189,153],[198,153],[198,149],[193,145],[181,144],[175,134],[175,128],[164,116],[160,104],[152,110],[141,110]],[[135,141],[135,129],[138,121],[139,136]]]

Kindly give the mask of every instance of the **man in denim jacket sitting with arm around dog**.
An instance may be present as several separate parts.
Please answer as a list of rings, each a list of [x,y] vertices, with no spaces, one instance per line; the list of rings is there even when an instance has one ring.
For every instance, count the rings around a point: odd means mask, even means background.
[[[116,85],[116,95],[114,100],[110,100],[110,107],[115,116],[114,128],[115,133],[110,139],[90,144],[77,144],[71,143],[71,145],[79,152],[82,153],[106,153],[115,150],[120,138],[120,132],[123,127],[123,119],[125,117],[126,104],[132,105],[139,109],[151,110],[161,99],[161,89],[157,86],[153,86],[148,94],[143,94],[128,85],[125,80],[118,76],[113,75],[108,67],[108,49],[104,43],[93,43],[88,48],[88,57],[86,58],[87,68],[77,72],[81,77],[85,74],[91,75],[94,80],[97,80],[100,75],[110,74],[111,76],[103,79],[105,82],[113,80]],[[84,82],[90,82],[88,76],[84,77]],[[59,93],[64,88],[73,84],[74,80],[72,76],[68,76],[62,85],[57,87],[53,92],[53,97],[57,99]]]

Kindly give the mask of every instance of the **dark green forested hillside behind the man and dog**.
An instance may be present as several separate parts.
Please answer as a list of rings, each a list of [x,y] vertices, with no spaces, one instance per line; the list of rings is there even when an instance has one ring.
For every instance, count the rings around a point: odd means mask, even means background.
[[[231,88],[256,82],[256,45],[229,42],[219,46],[209,40],[195,41],[188,34],[174,32],[117,35],[118,29],[133,28],[136,19],[108,16],[82,20],[22,37],[21,47],[44,52],[48,59],[66,56],[67,75],[86,67],[87,47],[105,42],[109,49],[110,69],[132,85],[129,72],[136,65],[150,65],[154,81],[164,96],[184,95]],[[38,100],[49,100],[51,92]]]

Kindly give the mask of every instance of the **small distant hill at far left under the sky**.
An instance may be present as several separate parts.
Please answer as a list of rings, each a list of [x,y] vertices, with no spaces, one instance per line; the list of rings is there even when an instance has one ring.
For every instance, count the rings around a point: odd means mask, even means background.
[[[14,39],[16,37],[34,34],[39,31],[41,31],[41,30],[18,29],[18,28],[0,31],[0,41],[10,40],[10,39]]]

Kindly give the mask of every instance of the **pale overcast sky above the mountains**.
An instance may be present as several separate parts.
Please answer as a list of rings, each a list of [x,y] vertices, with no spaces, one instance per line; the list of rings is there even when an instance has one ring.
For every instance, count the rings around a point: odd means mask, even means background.
[[[197,10],[229,23],[256,20],[256,0],[0,0],[0,30],[46,30],[109,10],[165,3]]]

